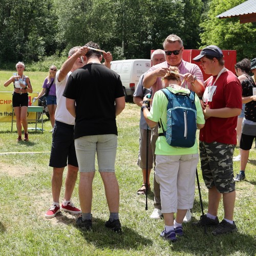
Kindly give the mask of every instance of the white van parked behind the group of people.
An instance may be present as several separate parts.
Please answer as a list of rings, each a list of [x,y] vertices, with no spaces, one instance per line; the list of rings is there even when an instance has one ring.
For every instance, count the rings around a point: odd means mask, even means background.
[[[133,96],[140,76],[151,67],[150,59],[124,59],[111,61],[111,69],[120,75],[125,101]]]

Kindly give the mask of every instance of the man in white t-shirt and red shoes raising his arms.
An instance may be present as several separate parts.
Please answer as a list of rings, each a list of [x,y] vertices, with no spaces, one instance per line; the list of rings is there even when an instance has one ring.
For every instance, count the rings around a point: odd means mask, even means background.
[[[68,59],[63,63],[61,69],[56,73],[56,96],[57,108],[55,112],[55,124],[52,135],[52,148],[49,166],[53,167],[52,175],[52,197],[53,203],[46,212],[46,218],[53,218],[60,208],[71,214],[81,214],[81,210],[76,208],[71,202],[71,196],[75,187],[78,163],[76,159],[74,145],[74,124],[75,118],[66,108],[66,98],[62,96],[70,74],[78,68],[83,67],[81,56],[86,55],[86,47],[74,47],[69,51]],[[104,53],[104,65],[110,68],[112,55],[110,52]],[[68,163],[67,163],[68,161]],[[65,166],[68,165],[68,173],[65,181],[64,200],[59,205],[62,176]]]

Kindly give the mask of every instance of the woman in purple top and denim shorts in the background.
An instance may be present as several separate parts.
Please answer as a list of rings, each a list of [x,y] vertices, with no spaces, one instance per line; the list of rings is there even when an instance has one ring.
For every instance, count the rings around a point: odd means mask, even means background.
[[[50,120],[52,127],[55,123],[55,110],[57,108],[57,102],[56,102],[56,84],[55,84],[55,76],[56,76],[57,68],[56,66],[51,66],[49,69],[49,75],[46,77],[44,84],[42,84],[42,91],[39,93],[38,97],[36,99],[39,99],[44,93],[46,92],[46,89],[50,86],[50,91],[48,96],[46,96],[46,104],[49,110]],[[53,82],[53,83],[52,83]],[[52,85],[51,85],[52,83]]]

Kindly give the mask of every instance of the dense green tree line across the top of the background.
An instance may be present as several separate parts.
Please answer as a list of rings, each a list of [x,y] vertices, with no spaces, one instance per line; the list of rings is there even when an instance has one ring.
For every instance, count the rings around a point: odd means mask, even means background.
[[[0,67],[67,56],[92,40],[114,59],[150,58],[169,34],[185,49],[216,44],[253,58],[256,24],[216,15],[245,0],[0,0]]]

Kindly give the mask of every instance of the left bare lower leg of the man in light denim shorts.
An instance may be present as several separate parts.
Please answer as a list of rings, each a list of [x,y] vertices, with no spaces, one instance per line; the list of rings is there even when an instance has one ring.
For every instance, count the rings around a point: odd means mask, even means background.
[[[79,181],[79,201],[83,214],[88,214],[92,211],[93,198],[93,178],[95,172],[80,173]]]

